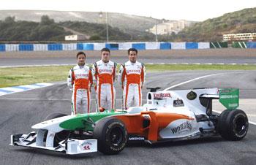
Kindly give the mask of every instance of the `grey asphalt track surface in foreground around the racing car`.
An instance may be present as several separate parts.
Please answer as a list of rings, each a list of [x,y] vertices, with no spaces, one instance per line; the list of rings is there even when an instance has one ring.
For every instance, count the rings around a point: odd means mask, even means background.
[[[253,55],[251,58],[255,59]],[[172,90],[203,87],[239,88],[240,108],[246,112],[252,123],[256,123],[255,82],[256,71],[153,72],[146,76],[143,102],[146,101],[146,87],[159,86],[162,89],[173,87]],[[254,124],[249,124],[246,137],[238,142],[211,137],[183,142],[165,142],[153,146],[136,144],[127,146],[115,156],[105,156],[102,153],[67,156],[64,153],[48,150],[9,146],[11,134],[33,131],[31,126],[44,120],[48,114],[52,112],[69,114],[71,95],[64,82],[56,82],[55,85],[46,88],[0,96],[0,164],[255,164],[256,162]],[[91,107],[94,111],[94,92],[91,96]],[[120,106],[121,87],[116,84],[116,107]],[[220,112],[225,108],[217,104],[214,110]]]

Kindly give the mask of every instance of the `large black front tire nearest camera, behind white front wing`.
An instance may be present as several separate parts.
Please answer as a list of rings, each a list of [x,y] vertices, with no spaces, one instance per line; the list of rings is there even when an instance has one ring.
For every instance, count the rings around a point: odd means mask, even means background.
[[[94,127],[94,139],[98,141],[98,150],[104,154],[120,153],[127,145],[127,128],[117,118],[103,118]]]

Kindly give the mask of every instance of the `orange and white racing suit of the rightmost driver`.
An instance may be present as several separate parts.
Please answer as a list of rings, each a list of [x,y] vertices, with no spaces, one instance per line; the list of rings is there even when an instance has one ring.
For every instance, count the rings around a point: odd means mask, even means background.
[[[141,106],[142,93],[141,88],[145,81],[146,69],[140,62],[132,63],[127,61],[120,67],[119,82],[123,88],[123,109],[133,106]]]

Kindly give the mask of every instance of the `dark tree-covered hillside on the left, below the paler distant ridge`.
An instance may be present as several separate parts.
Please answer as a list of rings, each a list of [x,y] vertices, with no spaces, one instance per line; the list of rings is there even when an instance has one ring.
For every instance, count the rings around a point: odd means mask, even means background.
[[[66,21],[56,23],[48,15],[43,15],[39,23],[33,21],[15,20],[15,17],[7,17],[0,20],[0,41],[64,41],[64,36],[70,34],[86,35],[90,41],[105,41],[106,26],[99,23],[87,23],[80,21]],[[154,34],[146,31],[130,31],[125,33],[112,26],[108,26],[110,41],[150,41]]]

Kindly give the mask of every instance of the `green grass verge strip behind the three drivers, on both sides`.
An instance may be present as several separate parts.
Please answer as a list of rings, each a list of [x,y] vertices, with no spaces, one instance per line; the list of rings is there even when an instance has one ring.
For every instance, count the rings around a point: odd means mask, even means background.
[[[72,66],[35,66],[0,69],[0,88],[67,80]],[[256,65],[146,65],[147,72],[177,70],[256,70]]]

